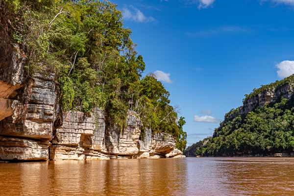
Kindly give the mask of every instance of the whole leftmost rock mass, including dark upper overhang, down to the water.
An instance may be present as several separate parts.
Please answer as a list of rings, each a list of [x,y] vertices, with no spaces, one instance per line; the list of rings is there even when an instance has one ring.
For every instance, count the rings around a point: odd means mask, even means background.
[[[56,115],[54,75],[25,75],[26,57],[0,44],[0,159],[47,160]]]

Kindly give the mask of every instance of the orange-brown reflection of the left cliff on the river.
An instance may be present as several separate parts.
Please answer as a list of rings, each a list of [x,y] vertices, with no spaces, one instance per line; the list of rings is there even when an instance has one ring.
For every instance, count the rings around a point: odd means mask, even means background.
[[[5,196],[186,195],[187,179],[184,159],[0,164]]]

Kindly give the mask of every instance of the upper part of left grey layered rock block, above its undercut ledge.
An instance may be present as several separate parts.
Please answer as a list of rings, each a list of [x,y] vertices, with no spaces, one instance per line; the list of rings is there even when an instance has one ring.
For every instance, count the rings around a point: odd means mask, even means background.
[[[36,77],[23,91],[23,100],[12,107],[12,116],[0,121],[0,135],[51,140],[57,98],[54,79]]]

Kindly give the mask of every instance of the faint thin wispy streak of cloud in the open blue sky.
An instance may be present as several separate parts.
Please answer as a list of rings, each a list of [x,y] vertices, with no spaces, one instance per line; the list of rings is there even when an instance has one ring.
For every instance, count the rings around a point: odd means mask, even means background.
[[[211,37],[224,33],[245,33],[250,32],[250,29],[241,26],[221,26],[218,28],[212,28],[208,30],[202,30],[197,32],[187,32],[189,37]]]

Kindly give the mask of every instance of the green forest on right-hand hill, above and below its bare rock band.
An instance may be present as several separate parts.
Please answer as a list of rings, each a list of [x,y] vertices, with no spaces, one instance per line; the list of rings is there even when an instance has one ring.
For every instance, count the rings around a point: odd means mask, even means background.
[[[293,83],[293,79],[294,75],[263,86],[253,94],[268,88],[277,90],[283,84]],[[245,115],[240,115],[238,111],[239,108],[226,114],[213,136],[188,147],[186,155],[241,156],[293,152],[294,96],[277,98]]]

